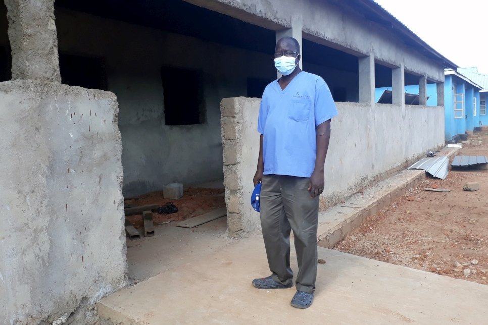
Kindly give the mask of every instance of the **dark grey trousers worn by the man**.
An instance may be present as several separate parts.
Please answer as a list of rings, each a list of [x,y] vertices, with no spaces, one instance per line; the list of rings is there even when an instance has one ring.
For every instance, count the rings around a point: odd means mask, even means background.
[[[317,223],[319,197],[311,198],[309,179],[264,175],[261,187],[261,227],[274,281],[293,281],[290,268],[290,231],[295,236],[298,275],[296,288],[313,293],[317,278]]]

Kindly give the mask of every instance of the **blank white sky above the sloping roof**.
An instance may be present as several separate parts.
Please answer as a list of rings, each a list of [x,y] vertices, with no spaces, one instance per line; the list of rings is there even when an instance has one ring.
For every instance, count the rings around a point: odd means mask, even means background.
[[[488,74],[487,0],[375,0],[461,68]]]

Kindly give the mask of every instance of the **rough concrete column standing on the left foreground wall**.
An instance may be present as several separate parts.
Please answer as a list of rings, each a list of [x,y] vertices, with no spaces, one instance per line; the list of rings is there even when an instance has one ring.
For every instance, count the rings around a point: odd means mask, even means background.
[[[5,0],[12,79],[61,83],[54,0]]]

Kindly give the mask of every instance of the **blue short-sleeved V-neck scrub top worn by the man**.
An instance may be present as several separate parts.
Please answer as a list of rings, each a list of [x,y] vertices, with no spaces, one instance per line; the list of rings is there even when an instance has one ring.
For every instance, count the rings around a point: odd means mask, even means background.
[[[258,132],[263,134],[264,175],[310,177],[315,168],[316,126],[337,115],[325,81],[300,72],[284,90],[278,80],[264,89]]]

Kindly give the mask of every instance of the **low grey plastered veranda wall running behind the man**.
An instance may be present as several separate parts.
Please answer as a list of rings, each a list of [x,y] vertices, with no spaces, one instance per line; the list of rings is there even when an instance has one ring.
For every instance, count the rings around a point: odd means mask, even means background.
[[[259,150],[259,99],[221,102],[228,230],[233,236],[259,227],[250,205]],[[427,150],[444,145],[441,106],[337,102],[325,161],[321,209],[338,203],[388,173],[403,169]]]

